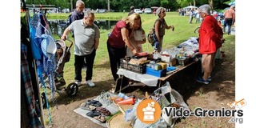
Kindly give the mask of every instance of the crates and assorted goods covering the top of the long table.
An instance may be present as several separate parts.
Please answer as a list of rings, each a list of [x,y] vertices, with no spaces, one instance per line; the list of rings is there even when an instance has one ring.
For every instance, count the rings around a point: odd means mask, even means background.
[[[186,66],[194,62],[198,54],[197,38],[189,38],[186,42],[161,53],[143,54],[143,57],[133,56],[121,59],[121,68],[138,74],[150,74],[155,77],[165,77],[174,71],[176,65]],[[120,71],[118,71],[120,73]]]

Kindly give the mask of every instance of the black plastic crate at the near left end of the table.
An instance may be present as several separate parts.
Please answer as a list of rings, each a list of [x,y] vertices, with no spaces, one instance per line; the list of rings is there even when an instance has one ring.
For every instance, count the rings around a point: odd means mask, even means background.
[[[145,74],[146,73],[146,63],[142,65],[134,65],[128,63],[130,58],[121,58],[120,59],[120,67],[125,70],[130,70],[138,74]]]

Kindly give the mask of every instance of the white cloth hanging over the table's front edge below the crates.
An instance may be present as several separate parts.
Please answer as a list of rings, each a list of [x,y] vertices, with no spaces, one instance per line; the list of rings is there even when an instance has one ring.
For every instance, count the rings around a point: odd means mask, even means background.
[[[124,75],[126,78],[133,79],[134,81],[142,82],[146,86],[157,86],[158,77],[155,77],[150,74],[138,74],[130,70],[119,69],[117,74]]]

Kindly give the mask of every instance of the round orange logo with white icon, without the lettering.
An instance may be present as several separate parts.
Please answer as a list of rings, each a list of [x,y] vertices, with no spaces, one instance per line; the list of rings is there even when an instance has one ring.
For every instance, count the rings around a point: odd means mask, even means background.
[[[145,99],[138,104],[136,113],[141,122],[152,124],[161,117],[161,107],[158,102],[152,99]]]

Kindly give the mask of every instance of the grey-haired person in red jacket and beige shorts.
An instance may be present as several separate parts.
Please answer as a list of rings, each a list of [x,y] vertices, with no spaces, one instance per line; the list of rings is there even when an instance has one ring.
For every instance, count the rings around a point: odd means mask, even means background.
[[[199,53],[202,54],[202,77],[196,80],[209,84],[212,80],[210,74],[214,68],[214,56],[216,50],[222,46],[222,29],[218,26],[217,20],[210,15],[211,7],[203,5],[199,7],[200,17],[203,19],[199,30]]]

